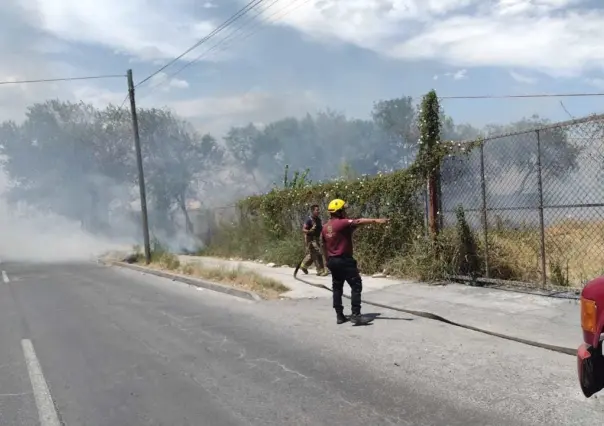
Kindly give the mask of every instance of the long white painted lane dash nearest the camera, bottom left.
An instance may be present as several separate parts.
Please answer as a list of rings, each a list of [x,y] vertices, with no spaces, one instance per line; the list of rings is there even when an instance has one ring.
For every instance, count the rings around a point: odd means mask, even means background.
[[[31,387],[36,399],[36,407],[38,407],[40,425],[61,426],[57,410],[55,409],[52,397],[50,396],[50,391],[48,390],[48,384],[42,374],[42,367],[40,366],[38,357],[34,351],[34,345],[31,343],[31,340],[23,339],[21,340],[21,347],[23,348],[29,380],[31,381]]]

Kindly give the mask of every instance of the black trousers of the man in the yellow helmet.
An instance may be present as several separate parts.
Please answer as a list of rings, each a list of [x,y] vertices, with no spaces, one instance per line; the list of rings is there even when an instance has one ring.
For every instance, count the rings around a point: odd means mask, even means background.
[[[357,268],[357,261],[353,257],[330,257],[327,267],[331,271],[331,285],[333,290],[333,308],[338,313],[344,312],[342,294],[344,281],[350,286],[350,305],[353,315],[361,314],[361,292],[363,281]]]

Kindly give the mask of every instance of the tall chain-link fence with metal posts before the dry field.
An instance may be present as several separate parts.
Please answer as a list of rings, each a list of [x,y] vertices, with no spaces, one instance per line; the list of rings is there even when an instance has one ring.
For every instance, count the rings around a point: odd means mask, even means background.
[[[583,284],[604,271],[603,150],[604,115],[489,136],[443,163],[443,225],[463,208],[486,277]]]

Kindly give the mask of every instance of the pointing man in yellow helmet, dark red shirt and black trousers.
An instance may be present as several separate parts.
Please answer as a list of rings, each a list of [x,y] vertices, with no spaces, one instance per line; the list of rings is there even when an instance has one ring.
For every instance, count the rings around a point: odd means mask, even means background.
[[[346,281],[350,286],[351,295],[350,321],[354,325],[366,325],[371,320],[361,316],[363,281],[359,274],[357,261],[353,257],[352,233],[359,226],[388,223],[388,219],[350,219],[346,214],[346,207],[346,202],[340,199],[332,200],[327,207],[330,219],[321,230],[323,255],[327,260],[327,267],[331,271],[333,308],[336,311],[337,323],[343,324],[348,321],[344,316],[342,306],[342,293],[344,281]]]

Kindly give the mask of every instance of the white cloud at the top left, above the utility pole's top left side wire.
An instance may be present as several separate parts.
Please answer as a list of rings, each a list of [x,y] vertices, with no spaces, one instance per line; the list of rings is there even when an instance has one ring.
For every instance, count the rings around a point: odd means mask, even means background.
[[[152,61],[173,58],[211,32],[213,19],[197,19],[184,0],[22,0],[31,21],[74,43],[101,45]]]

